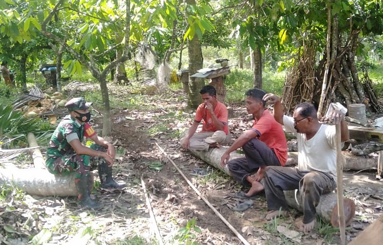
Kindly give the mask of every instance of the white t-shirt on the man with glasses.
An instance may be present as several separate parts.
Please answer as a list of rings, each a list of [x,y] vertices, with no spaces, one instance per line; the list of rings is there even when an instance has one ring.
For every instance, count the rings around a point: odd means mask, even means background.
[[[306,134],[297,133],[294,119],[283,116],[286,132],[292,132],[298,141],[298,169],[320,171],[337,177],[337,151],[335,127],[322,124],[313,138],[306,140]]]

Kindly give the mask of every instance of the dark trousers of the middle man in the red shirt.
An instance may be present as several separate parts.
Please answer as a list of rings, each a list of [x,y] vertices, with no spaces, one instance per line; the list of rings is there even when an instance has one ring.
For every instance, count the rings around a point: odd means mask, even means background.
[[[230,173],[241,185],[249,186],[246,178],[261,166],[281,166],[274,150],[259,139],[249,140],[242,149],[245,157],[230,160],[228,163]]]

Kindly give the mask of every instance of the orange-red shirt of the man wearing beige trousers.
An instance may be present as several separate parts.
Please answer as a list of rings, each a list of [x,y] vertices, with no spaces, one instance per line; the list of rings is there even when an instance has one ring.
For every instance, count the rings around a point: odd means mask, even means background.
[[[225,134],[228,134],[229,131],[227,129],[227,108],[224,104],[217,101],[217,105],[214,108],[214,114],[217,116],[218,120],[224,124],[223,131]],[[202,103],[198,106],[196,114],[195,114],[195,121],[201,122],[203,119],[202,124],[202,131],[201,132],[215,132],[218,131],[218,129],[214,126],[213,119],[211,118],[210,112],[208,109],[205,108],[205,104]]]

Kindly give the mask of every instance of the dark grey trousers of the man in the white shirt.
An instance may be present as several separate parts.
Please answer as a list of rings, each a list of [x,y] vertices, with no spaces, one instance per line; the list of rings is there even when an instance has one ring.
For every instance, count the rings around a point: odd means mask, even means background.
[[[269,210],[288,211],[283,191],[298,189],[302,195],[303,223],[308,224],[315,219],[320,196],[334,191],[337,184],[332,175],[323,172],[266,167],[263,186]]]

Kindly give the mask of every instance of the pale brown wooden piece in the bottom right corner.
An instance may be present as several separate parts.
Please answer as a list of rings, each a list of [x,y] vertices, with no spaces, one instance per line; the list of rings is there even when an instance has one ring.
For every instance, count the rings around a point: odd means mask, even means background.
[[[378,245],[383,244],[383,215],[368,226],[349,245]]]

